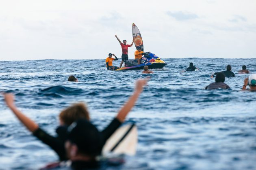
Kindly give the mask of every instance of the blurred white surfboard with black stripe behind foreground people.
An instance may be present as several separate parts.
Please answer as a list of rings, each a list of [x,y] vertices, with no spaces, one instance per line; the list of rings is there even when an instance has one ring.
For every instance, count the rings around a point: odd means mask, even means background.
[[[108,153],[135,155],[138,143],[138,131],[135,124],[119,127],[115,133],[108,138],[103,147],[103,155]]]

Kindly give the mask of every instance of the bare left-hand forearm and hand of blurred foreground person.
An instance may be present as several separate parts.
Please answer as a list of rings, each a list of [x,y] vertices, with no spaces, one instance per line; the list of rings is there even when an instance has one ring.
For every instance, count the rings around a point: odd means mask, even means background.
[[[14,104],[13,94],[4,94],[4,100],[7,106],[13,111],[14,115],[28,128],[30,132],[35,132],[38,129],[37,123],[26,117]]]

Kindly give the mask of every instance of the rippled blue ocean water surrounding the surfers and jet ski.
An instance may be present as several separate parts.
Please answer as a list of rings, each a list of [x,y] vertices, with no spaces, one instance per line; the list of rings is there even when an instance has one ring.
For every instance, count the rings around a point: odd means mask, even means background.
[[[150,76],[127,117],[138,126],[137,154],[107,169],[256,169],[256,93],[240,91],[248,74],[226,78],[230,90],[204,90],[215,81],[210,74],[228,64],[235,73],[242,65],[256,73],[256,59],[163,60],[168,65],[150,75],[107,71],[104,60],[1,61],[0,91],[14,93],[17,107],[55,135],[60,111],[76,102],[86,102],[92,122],[103,129],[132,94],[135,81]],[[200,70],[181,72],[189,62]],[[78,82],[68,82],[70,74]],[[0,169],[38,169],[57,160],[0,96]]]

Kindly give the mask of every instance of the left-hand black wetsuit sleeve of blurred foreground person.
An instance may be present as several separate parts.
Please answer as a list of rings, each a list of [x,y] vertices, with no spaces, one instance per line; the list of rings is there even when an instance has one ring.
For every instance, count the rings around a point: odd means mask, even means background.
[[[38,128],[33,133],[39,140],[51,147],[58,155],[60,160],[67,160],[64,142],[60,138],[53,137],[43,131],[41,128]]]

